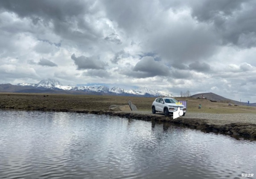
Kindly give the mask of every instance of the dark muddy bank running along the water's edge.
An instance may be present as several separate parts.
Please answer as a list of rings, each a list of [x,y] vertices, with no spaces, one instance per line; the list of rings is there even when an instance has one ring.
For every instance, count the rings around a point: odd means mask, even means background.
[[[144,121],[170,122],[180,125],[181,127],[189,127],[207,132],[217,132],[226,135],[243,136],[250,139],[256,139],[256,124],[233,122],[224,125],[214,124],[209,119],[189,118],[187,116],[173,119],[171,115],[164,116],[163,114],[148,114],[148,111],[105,111],[105,110],[74,110],[74,109],[49,109],[49,108],[32,108],[20,109],[13,107],[0,107],[0,109],[15,109],[25,111],[54,111],[54,112],[76,112],[83,114],[97,114],[119,116],[127,119],[137,119]]]

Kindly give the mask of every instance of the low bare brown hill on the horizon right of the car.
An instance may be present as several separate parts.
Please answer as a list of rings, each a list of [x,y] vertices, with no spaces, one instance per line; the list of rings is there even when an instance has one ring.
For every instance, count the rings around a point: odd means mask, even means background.
[[[217,101],[217,102],[224,102],[224,103],[232,103],[233,105],[247,105],[247,102],[241,102],[240,101],[235,101],[232,99],[228,99],[225,97],[222,97],[218,94],[214,94],[214,93],[200,93],[200,94],[194,94],[190,97],[193,98],[201,98],[204,95],[205,98],[212,100],[212,101]],[[250,106],[256,106],[256,103],[251,103]]]

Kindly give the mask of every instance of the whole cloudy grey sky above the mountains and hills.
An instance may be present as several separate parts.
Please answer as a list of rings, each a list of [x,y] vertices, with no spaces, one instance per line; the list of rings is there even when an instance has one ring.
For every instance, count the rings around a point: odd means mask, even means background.
[[[0,0],[0,83],[256,102],[255,0]]]

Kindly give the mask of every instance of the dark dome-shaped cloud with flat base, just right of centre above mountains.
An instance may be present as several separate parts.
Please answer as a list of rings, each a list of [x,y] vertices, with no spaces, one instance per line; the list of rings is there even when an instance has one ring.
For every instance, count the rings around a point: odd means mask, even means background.
[[[137,78],[155,76],[169,76],[169,68],[162,62],[157,62],[153,57],[143,57],[131,71],[123,71],[122,74]]]

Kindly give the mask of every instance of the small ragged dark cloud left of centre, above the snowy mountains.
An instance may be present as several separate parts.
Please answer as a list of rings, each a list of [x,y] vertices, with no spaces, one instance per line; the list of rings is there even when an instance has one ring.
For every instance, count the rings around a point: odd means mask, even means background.
[[[77,65],[78,70],[84,69],[104,69],[107,65],[106,63],[101,62],[96,57],[76,57],[75,54],[71,56],[71,59],[74,60]]]

